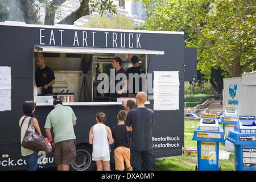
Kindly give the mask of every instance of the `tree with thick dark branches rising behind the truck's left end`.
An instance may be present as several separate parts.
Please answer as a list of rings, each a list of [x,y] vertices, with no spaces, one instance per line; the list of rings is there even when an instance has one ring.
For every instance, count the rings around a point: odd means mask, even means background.
[[[46,10],[46,16],[44,24],[54,25],[55,13],[60,5],[67,0],[39,0],[39,3],[43,3]],[[82,16],[89,15],[93,11],[99,11],[100,15],[104,14],[104,11],[109,11],[110,14],[115,14],[116,5],[113,4],[115,0],[79,0],[79,9],[73,11],[66,16],[59,24],[73,24],[77,19]],[[39,11],[38,4],[35,4],[34,0],[14,0],[16,6],[19,7],[24,20],[27,24],[39,24],[39,20],[36,14]],[[90,6],[89,6],[90,5]],[[35,8],[34,8],[35,7]]]

